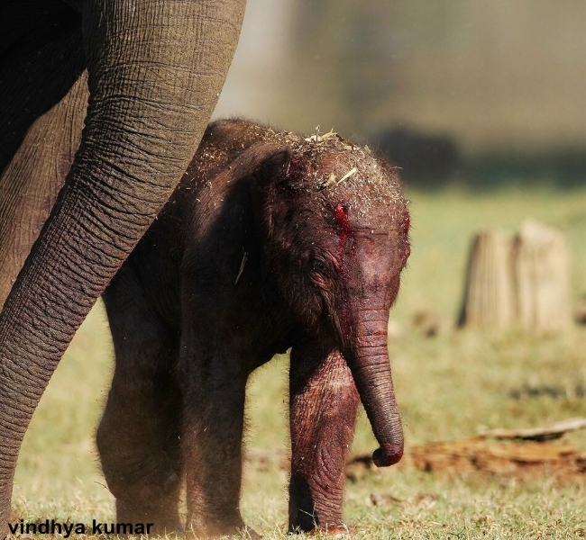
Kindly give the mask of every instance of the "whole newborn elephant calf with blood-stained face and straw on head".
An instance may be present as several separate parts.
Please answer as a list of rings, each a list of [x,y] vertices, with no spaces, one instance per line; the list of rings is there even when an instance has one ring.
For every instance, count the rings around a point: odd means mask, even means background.
[[[206,130],[104,295],[116,363],[97,445],[118,522],[178,530],[185,476],[188,531],[244,528],[246,381],[291,347],[289,530],[343,529],[359,398],[375,464],[403,453],[387,320],[408,227],[395,169],[335,134]]]

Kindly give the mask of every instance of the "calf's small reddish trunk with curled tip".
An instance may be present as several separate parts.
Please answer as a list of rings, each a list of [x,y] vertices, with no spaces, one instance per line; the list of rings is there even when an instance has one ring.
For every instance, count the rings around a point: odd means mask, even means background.
[[[398,463],[403,455],[403,428],[390,373],[387,348],[388,311],[358,311],[346,333],[343,356],[353,373],[362,405],[380,448],[372,455],[377,467]],[[354,318],[353,318],[354,319]],[[345,325],[343,325],[345,326]]]

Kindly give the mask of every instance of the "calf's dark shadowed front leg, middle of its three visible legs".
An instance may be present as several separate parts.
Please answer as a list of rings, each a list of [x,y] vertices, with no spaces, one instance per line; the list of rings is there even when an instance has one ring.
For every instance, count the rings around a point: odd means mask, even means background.
[[[239,505],[246,374],[223,357],[194,353],[181,362],[188,536],[245,529]]]

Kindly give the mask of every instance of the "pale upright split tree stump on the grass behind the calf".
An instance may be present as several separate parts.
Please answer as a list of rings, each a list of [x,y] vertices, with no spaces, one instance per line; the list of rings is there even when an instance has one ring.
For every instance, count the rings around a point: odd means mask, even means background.
[[[459,326],[556,331],[571,324],[568,248],[562,232],[526,221],[472,241]]]

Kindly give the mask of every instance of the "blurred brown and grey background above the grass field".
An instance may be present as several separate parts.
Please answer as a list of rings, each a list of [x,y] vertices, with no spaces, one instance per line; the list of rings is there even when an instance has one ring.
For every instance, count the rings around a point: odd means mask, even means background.
[[[408,183],[586,178],[583,0],[249,0],[217,116],[316,125]]]

